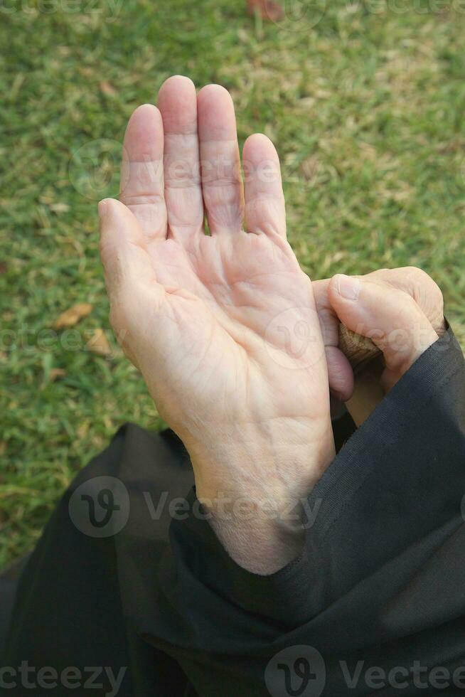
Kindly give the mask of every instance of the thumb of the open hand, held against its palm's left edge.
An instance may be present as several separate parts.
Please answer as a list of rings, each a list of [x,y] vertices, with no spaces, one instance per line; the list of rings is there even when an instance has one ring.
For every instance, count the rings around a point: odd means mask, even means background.
[[[139,220],[120,201],[100,201],[100,255],[110,301],[132,299],[142,284],[156,287],[154,267]],[[154,294],[158,290],[154,289]]]

